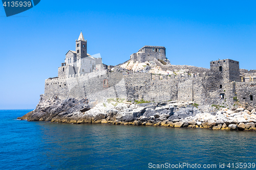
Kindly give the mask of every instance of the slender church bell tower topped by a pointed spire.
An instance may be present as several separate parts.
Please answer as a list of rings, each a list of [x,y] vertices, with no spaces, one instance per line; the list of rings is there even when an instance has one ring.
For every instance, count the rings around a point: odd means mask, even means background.
[[[76,55],[77,59],[87,57],[87,40],[84,40],[82,32],[76,40]]]

